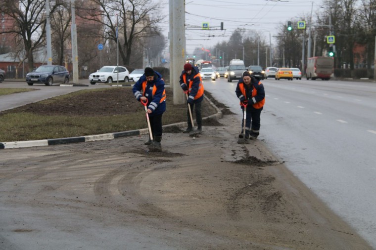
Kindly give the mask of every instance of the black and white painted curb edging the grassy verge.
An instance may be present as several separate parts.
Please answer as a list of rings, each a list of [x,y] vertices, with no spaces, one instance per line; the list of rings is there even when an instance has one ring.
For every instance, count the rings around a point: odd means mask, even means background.
[[[206,100],[216,108],[217,113],[208,117],[203,118],[206,119],[221,119],[223,114],[220,109],[218,109],[212,101],[210,101],[206,96]],[[164,125],[163,127],[184,127],[187,126],[187,122],[181,122],[176,124],[169,124]],[[124,132],[114,132],[114,133],[107,133],[107,134],[96,134],[96,135],[86,135],[86,136],[78,136],[78,137],[68,137],[68,138],[58,138],[58,139],[45,139],[45,140],[32,140],[32,141],[11,141],[11,142],[0,142],[0,149],[10,149],[10,148],[27,148],[27,147],[39,147],[39,146],[52,146],[52,145],[61,145],[61,144],[69,144],[69,143],[78,143],[78,142],[89,142],[89,141],[100,141],[100,140],[111,140],[126,136],[134,136],[134,135],[143,135],[148,134],[148,128],[142,128],[138,130],[130,130]]]

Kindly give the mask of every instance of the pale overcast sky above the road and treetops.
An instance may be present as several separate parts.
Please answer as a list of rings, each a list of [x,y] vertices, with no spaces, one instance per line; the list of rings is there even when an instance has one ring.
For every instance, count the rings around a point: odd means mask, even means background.
[[[308,20],[311,9],[314,17],[322,2],[323,0],[186,0],[186,27],[201,27],[202,23],[209,23],[211,28],[186,29],[187,52],[197,46],[210,47],[217,42],[228,41],[236,28],[245,29],[246,32],[260,31],[265,34],[267,42],[270,33],[274,43],[273,36],[277,35],[282,24],[301,16],[306,16]],[[168,0],[165,9],[168,14]],[[224,22],[223,31],[219,27],[221,22]],[[168,27],[165,36],[168,36]]]

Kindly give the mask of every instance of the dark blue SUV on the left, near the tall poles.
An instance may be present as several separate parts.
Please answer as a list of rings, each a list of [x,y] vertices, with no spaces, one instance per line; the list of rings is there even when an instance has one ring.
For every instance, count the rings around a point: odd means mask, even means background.
[[[42,65],[35,71],[26,74],[26,83],[32,86],[34,83],[44,83],[52,86],[53,83],[69,83],[69,71],[60,65]]]

